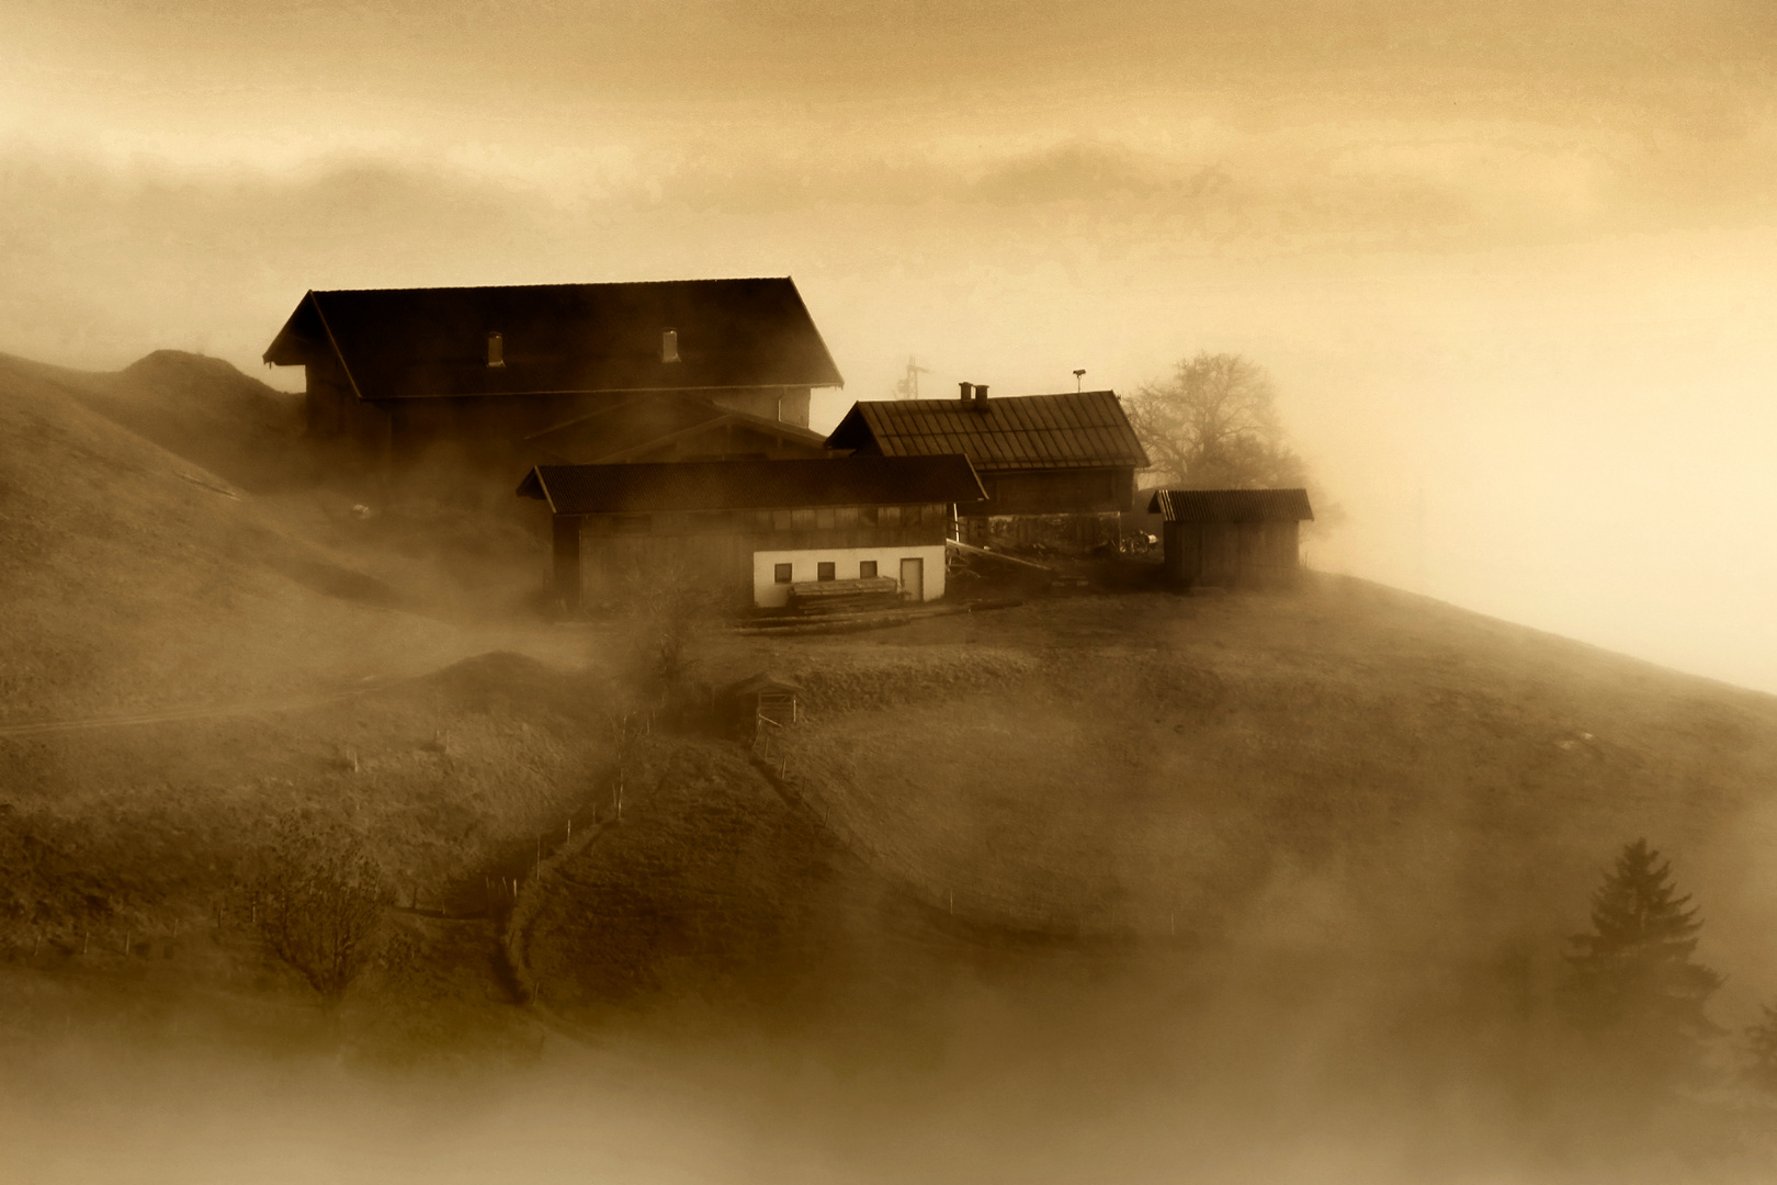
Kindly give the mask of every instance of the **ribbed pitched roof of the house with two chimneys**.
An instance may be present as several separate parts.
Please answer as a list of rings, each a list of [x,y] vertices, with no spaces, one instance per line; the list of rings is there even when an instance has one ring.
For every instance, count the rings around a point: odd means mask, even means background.
[[[983,473],[1148,465],[1114,391],[992,398],[984,410],[961,400],[860,402],[826,444],[883,457],[963,453]]]

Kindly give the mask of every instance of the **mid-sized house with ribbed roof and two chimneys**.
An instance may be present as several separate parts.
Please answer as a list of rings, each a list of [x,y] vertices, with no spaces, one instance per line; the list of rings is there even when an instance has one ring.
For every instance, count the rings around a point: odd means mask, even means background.
[[[855,403],[826,444],[860,457],[968,457],[986,501],[958,510],[963,538],[993,515],[1070,515],[1089,528],[1130,508],[1148,453],[1116,393],[988,400],[986,387],[961,387],[956,400]]]

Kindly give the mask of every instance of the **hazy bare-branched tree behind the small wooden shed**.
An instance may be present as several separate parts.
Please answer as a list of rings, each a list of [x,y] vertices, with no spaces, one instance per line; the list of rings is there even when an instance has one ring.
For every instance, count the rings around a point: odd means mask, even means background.
[[[1301,487],[1301,457],[1283,442],[1278,393],[1256,362],[1207,354],[1178,362],[1166,382],[1125,403],[1153,460],[1151,476],[1183,489]]]

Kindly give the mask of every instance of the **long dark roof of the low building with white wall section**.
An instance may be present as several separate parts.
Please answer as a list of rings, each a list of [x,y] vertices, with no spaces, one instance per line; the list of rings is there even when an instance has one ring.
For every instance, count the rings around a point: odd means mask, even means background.
[[[519,483],[554,513],[780,510],[986,501],[967,457],[537,465]]]

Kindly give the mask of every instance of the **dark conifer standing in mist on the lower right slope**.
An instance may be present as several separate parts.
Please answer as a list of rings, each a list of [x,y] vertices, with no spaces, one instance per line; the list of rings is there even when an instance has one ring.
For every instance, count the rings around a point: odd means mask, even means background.
[[[1672,865],[1646,839],[1628,844],[1592,894],[1592,933],[1571,940],[1576,1018],[1638,1057],[1693,1057],[1701,1039],[1720,1032],[1704,1006],[1722,977],[1692,959],[1701,929],[1690,895],[1672,885]]]

